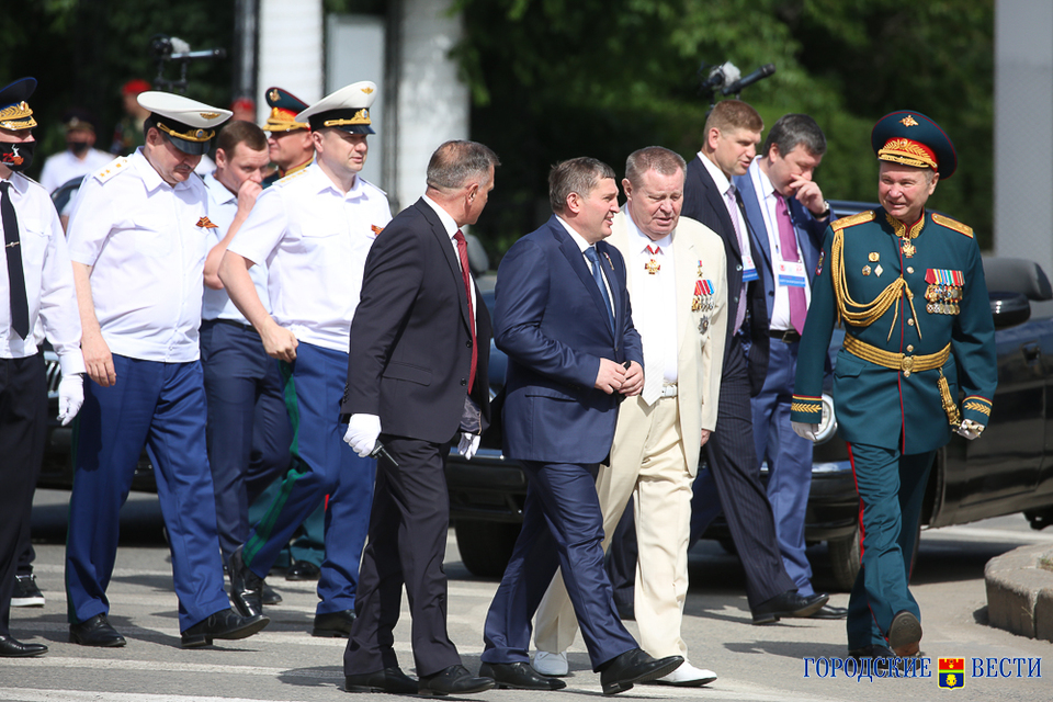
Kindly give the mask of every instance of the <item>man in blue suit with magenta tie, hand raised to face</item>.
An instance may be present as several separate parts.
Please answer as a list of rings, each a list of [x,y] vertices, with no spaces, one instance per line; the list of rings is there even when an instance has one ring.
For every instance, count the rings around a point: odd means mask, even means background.
[[[768,373],[750,399],[757,457],[768,461],[768,500],[786,574],[804,597],[815,595],[804,553],[804,512],[812,485],[812,442],[793,432],[790,405],[797,347],[811,281],[819,261],[829,204],[812,174],[826,154],[826,136],[805,114],[783,115],[772,125],[745,176],[734,178],[746,220],[757,235],[755,261],[765,281],[770,347]],[[824,605],[812,619],[842,619],[848,610]]]

